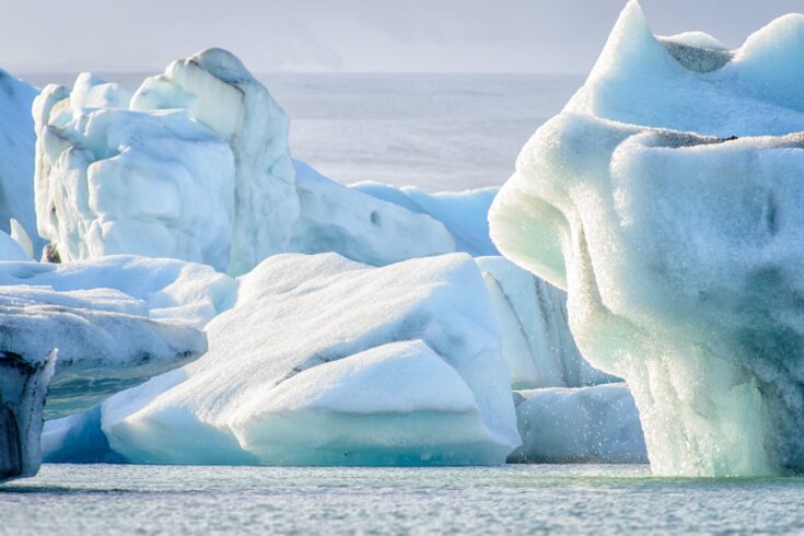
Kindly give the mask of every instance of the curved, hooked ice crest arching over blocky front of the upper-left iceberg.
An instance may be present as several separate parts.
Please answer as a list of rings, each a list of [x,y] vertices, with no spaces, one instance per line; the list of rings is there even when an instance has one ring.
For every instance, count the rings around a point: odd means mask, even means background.
[[[289,119],[243,63],[210,48],[171,63],[147,79],[131,108],[188,108],[232,149],[235,221],[229,271],[244,273],[267,256],[288,250],[299,217]]]

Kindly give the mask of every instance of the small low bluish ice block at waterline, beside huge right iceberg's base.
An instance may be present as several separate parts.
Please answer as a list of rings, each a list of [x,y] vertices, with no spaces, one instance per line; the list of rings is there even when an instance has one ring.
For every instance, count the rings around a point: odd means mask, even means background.
[[[625,384],[521,391],[523,444],[510,462],[646,464],[639,411]]]

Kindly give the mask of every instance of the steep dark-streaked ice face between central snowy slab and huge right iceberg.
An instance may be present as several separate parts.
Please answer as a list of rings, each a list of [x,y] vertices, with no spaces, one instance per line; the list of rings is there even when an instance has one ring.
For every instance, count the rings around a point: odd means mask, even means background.
[[[580,387],[618,378],[592,368],[567,319],[567,294],[503,257],[478,257],[515,389]]]

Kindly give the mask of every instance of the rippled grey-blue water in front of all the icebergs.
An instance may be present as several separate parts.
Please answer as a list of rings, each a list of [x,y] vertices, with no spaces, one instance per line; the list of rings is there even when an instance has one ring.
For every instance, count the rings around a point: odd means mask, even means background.
[[[802,534],[804,479],[646,466],[45,465],[0,486],[0,534]]]

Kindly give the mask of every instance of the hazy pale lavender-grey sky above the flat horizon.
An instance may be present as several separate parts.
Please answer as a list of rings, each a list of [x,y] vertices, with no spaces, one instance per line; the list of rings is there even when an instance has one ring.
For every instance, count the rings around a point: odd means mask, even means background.
[[[0,0],[0,66],[162,70],[209,46],[253,71],[585,72],[625,0]],[[643,0],[655,33],[739,45],[804,0]]]

